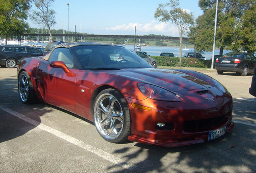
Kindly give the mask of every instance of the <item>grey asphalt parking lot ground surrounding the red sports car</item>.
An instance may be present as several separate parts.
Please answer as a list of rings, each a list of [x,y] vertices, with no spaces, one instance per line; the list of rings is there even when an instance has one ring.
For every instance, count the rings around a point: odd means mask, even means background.
[[[45,103],[24,105],[16,69],[0,68],[0,173],[253,173],[256,99],[252,74],[218,75],[233,96],[235,127],[224,137],[184,147],[113,144],[93,123]]]

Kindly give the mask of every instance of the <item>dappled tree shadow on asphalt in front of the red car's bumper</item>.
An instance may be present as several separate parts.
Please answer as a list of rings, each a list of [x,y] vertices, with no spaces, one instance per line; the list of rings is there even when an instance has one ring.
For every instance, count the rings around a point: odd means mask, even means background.
[[[244,103],[243,100],[234,101],[234,107],[243,104],[247,105],[245,108],[248,109],[247,113],[235,109],[233,114],[248,117],[256,111],[253,103]],[[239,119],[238,116],[233,118]],[[248,123],[254,122],[248,121]],[[132,150],[129,147],[116,150],[114,153],[129,153],[123,158],[128,162],[134,162],[139,155],[146,153],[145,159],[135,163],[136,167],[132,170],[134,172],[255,172],[255,136],[256,127],[235,123],[233,131],[213,141],[181,147],[160,147],[135,143],[134,146],[138,147],[138,150],[134,153],[129,152]]]

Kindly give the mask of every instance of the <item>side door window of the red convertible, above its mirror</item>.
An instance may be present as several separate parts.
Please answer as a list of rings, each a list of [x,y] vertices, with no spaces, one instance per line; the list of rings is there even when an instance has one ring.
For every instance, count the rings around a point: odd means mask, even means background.
[[[49,61],[52,62],[56,60],[64,62],[68,68],[74,68],[73,58],[68,48],[54,49]]]

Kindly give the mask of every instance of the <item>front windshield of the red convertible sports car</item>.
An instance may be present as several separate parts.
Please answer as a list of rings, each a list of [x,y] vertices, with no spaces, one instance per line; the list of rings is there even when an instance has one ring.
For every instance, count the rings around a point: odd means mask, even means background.
[[[153,68],[147,61],[122,46],[84,45],[70,49],[84,69]]]

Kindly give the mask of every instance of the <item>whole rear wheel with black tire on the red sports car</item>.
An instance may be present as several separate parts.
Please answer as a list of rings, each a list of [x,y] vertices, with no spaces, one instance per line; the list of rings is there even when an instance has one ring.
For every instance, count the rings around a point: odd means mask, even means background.
[[[37,95],[35,93],[31,78],[26,71],[19,74],[18,90],[22,103],[31,104],[37,102]]]

